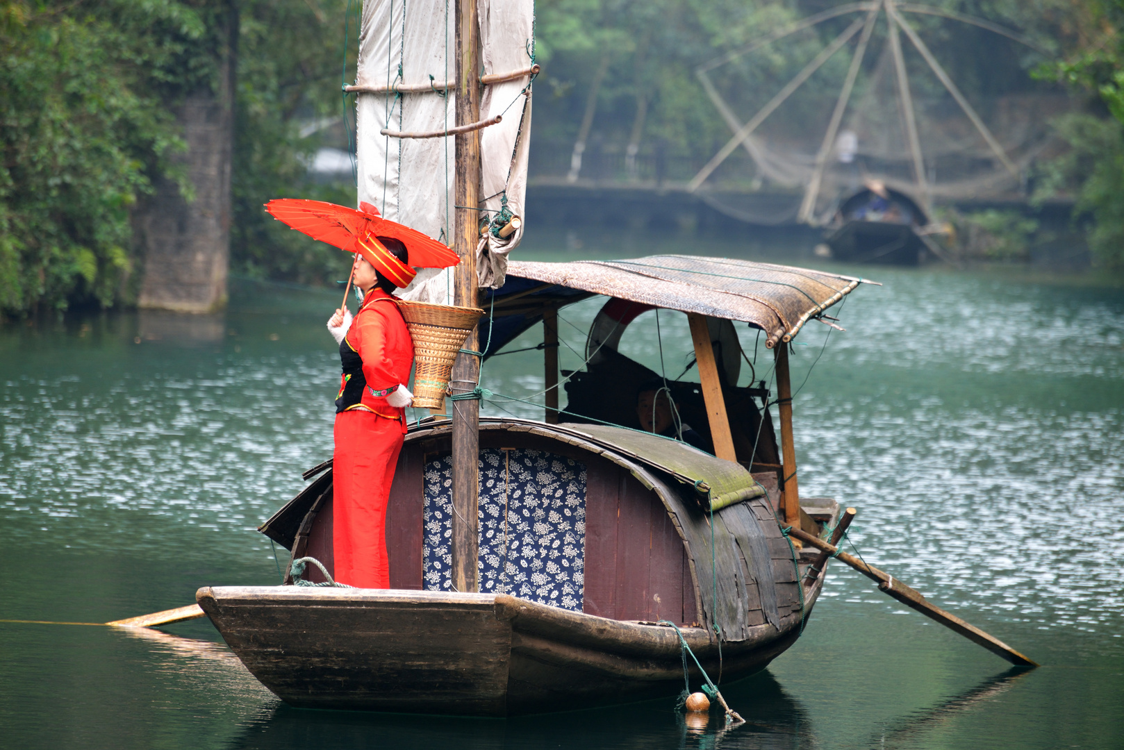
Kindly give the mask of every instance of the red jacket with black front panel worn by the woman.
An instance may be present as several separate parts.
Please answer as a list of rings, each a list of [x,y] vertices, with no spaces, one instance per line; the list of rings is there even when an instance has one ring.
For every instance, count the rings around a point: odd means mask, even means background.
[[[381,289],[372,289],[347,328],[339,344],[343,377],[337,413],[361,408],[405,424],[405,409],[387,404],[387,396],[409,382],[414,340],[393,300]]]

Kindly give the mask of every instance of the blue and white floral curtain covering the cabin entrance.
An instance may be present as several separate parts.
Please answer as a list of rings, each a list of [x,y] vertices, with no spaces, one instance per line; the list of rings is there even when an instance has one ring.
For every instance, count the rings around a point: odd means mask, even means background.
[[[453,464],[425,467],[422,540],[426,590],[452,581]],[[581,612],[586,467],[544,451],[480,451],[480,590]]]

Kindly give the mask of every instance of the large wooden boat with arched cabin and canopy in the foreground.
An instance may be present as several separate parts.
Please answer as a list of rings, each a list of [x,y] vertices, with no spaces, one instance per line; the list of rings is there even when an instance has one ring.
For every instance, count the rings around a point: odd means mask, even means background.
[[[205,587],[199,605],[294,706],[502,716],[674,696],[679,633],[715,680],[759,671],[800,636],[823,582],[809,568],[825,555],[791,546],[782,527],[818,534],[839,517],[834,500],[798,494],[788,342],[858,284],[674,255],[511,262],[483,300],[484,355],[542,324],[546,418],[480,419],[473,549],[456,542],[455,427],[430,417],[410,425],[395,476],[391,589]],[[607,347],[597,323],[601,356],[569,373],[556,410],[558,311],[593,295],[620,327],[647,309],[687,314],[700,381],[669,387],[714,454],[638,430],[636,390],[656,373]],[[736,386],[726,363],[741,352],[720,351],[732,320],[762,332],[776,390]],[[306,478],[261,531],[330,575],[330,461]],[[459,555],[471,555],[475,590],[454,590]],[[307,578],[326,582],[315,567]]]

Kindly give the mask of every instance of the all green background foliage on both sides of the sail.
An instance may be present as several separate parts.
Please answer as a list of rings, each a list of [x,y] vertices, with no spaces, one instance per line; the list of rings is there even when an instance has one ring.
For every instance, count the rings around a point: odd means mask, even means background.
[[[536,54],[545,73],[536,84],[533,165],[569,160],[598,70],[605,71],[593,93],[598,138],[641,144],[642,154],[659,151],[683,163],[706,159],[728,130],[695,69],[835,4],[538,0]],[[1039,66],[1098,102],[1058,124],[1071,150],[1039,175],[1039,196],[1076,197],[1093,218],[1096,257],[1124,266],[1124,45],[1116,33],[1124,0],[930,4],[1001,20],[1049,51],[1043,63],[1041,54],[973,27],[917,18],[966,93],[1017,90]],[[346,180],[310,181],[307,164],[326,138],[344,145],[338,120],[352,102],[338,84],[342,66],[345,78],[354,76],[359,6],[0,0],[0,313],[135,299],[143,259],[132,243],[130,209],[161,175],[178,179],[190,199],[175,166],[183,148],[175,106],[200,87],[217,85],[217,19],[232,10],[238,18],[233,270],[308,283],[342,274],[341,253],[284,229],[261,205],[283,196],[354,199]],[[753,111],[762,91],[776,91],[846,22],[801,31],[725,69],[716,79],[723,96]],[[345,54],[352,56],[346,65]],[[845,65],[845,55],[832,58],[824,75],[809,80],[812,93],[836,87]],[[799,98],[787,106],[795,108],[788,123],[823,121],[818,110],[801,116]],[[308,124],[318,120],[336,124],[311,132]]]

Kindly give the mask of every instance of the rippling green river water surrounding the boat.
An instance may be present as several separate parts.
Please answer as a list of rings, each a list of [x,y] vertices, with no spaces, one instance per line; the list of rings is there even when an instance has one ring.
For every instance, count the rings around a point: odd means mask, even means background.
[[[1008,670],[840,564],[800,641],[724,686],[747,720],[728,731],[717,716],[686,724],[670,701],[506,721],[300,711],[206,620],[164,633],[2,622],[0,746],[1124,747],[1124,291],[1009,270],[843,270],[883,286],[847,299],[846,333],[809,324],[798,338],[801,494],[858,507],[864,559],[1041,669]],[[330,454],[338,360],[323,324],[336,293],[243,280],[209,318],[0,328],[0,618],[99,623],[189,604],[202,585],[277,582],[254,527]],[[598,304],[563,310],[563,368],[580,364]],[[659,326],[673,377],[686,319]],[[641,317],[622,351],[661,367],[655,333]],[[768,378],[771,353],[738,334]],[[490,360],[484,386],[534,396],[540,356]]]

